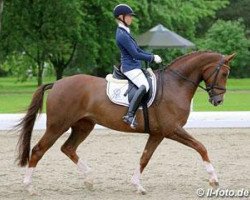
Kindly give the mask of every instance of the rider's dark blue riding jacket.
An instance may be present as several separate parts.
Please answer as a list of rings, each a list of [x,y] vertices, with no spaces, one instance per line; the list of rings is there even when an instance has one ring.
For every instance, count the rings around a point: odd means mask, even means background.
[[[152,62],[154,55],[143,51],[134,38],[122,27],[116,30],[116,44],[121,51],[121,70],[141,69],[141,60]]]

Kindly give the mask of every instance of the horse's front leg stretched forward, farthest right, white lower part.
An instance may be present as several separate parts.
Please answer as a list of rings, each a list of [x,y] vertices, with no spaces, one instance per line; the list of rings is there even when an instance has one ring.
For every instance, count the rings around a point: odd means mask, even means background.
[[[188,132],[186,132],[181,127],[177,128],[174,131],[174,134],[168,136],[168,138],[178,141],[186,146],[189,146],[195,149],[201,155],[205,168],[210,176],[210,179],[209,179],[210,185],[212,187],[217,187],[219,185],[214,167],[209,160],[207,149],[201,142],[193,138]]]

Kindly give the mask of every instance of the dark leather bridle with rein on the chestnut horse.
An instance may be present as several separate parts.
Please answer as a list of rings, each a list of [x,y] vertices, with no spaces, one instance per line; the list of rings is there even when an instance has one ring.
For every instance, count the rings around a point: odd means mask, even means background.
[[[184,80],[186,80],[186,81],[192,83],[194,86],[199,87],[199,88],[201,88],[202,90],[206,91],[206,92],[208,93],[209,97],[212,98],[212,97],[215,97],[215,96],[224,94],[224,93],[226,92],[226,88],[225,88],[225,87],[216,85],[217,79],[218,79],[218,74],[219,74],[219,72],[220,72],[220,70],[221,70],[221,68],[222,68],[223,66],[225,66],[225,67],[227,67],[228,69],[230,69],[230,68],[225,64],[225,59],[222,57],[221,60],[220,60],[220,62],[216,65],[215,69],[211,72],[211,74],[209,74],[208,77],[206,77],[206,78],[203,79],[204,82],[206,83],[206,81],[207,81],[208,79],[210,79],[212,76],[214,76],[214,79],[213,79],[212,83],[206,85],[206,87],[203,87],[202,85],[200,85],[200,83],[196,83],[195,81],[188,79],[186,76],[184,76],[182,73],[180,73],[180,72],[177,71],[177,70],[173,70],[173,69],[171,69],[171,68],[169,68],[169,70],[170,70],[171,72],[173,72],[174,74],[178,75],[179,77],[181,77],[182,79],[184,79]],[[207,68],[207,69],[209,69],[209,68]],[[207,69],[206,69],[206,70],[207,70]],[[206,70],[205,70],[205,71],[206,71]],[[220,93],[216,93],[216,92],[214,91],[214,89],[221,90],[221,92],[220,92]]]

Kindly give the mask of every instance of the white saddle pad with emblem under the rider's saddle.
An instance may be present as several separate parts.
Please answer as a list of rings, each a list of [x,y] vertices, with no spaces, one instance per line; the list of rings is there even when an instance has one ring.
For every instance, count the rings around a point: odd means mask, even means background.
[[[156,95],[156,77],[151,68],[148,68],[147,70],[151,74],[152,87],[153,87],[152,97],[150,98],[147,104],[147,106],[150,107]],[[106,80],[108,81],[106,92],[109,99],[115,104],[128,107],[129,106],[128,94],[124,96],[124,94],[128,90],[128,80],[115,79],[113,78],[112,74],[108,74],[106,76]]]

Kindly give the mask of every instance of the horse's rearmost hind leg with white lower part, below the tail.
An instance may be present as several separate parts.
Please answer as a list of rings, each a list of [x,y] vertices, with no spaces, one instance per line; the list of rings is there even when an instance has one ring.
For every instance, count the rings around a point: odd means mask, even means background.
[[[55,143],[55,141],[64,133],[64,131],[59,131],[59,129],[47,127],[45,134],[39,140],[39,142],[33,147],[28,168],[26,170],[23,183],[26,189],[34,194],[34,189],[31,185],[32,175],[35,167],[39,160],[43,157],[45,152]]]

